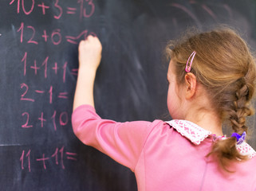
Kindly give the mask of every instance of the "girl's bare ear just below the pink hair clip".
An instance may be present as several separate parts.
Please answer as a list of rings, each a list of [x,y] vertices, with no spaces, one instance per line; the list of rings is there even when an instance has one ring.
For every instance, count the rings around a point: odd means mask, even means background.
[[[186,85],[186,99],[191,99],[195,95],[196,88],[196,77],[193,73],[187,72],[185,76],[185,85]]]

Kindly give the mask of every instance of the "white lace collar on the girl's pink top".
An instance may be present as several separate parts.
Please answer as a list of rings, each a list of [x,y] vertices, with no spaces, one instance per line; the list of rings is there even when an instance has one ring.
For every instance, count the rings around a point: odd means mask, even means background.
[[[175,119],[168,121],[167,123],[195,145],[199,145],[205,138],[212,134],[211,131],[207,131],[187,120]],[[256,156],[255,150],[246,142],[242,142],[242,144],[237,145],[237,149],[241,154],[249,155],[249,158]]]

